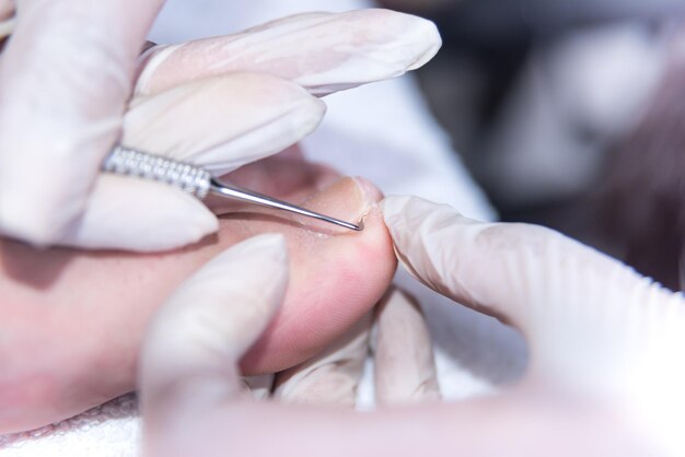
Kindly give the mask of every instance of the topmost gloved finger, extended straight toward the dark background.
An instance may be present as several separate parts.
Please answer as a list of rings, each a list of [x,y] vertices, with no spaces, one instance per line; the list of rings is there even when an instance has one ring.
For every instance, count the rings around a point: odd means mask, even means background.
[[[257,71],[326,95],[419,68],[440,46],[432,22],[394,11],[299,14],[236,35],[159,46],[144,57],[136,91]]]

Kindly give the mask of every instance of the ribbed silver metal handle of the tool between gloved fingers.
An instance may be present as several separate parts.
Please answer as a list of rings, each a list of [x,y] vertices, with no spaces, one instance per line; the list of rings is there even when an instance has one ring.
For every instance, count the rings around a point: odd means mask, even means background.
[[[207,197],[211,186],[211,175],[202,168],[121,145],[116,145],[107,155],[103,171],[153,179],[177,187],[199,199]]]

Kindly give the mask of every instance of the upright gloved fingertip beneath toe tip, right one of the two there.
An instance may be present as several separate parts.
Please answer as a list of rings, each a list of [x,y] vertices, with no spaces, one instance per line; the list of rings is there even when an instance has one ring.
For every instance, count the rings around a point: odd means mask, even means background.
[[[399,289],[388,291],[376,308],[372,347],[379,405],[440,399],[433,345],[423,313]]]

